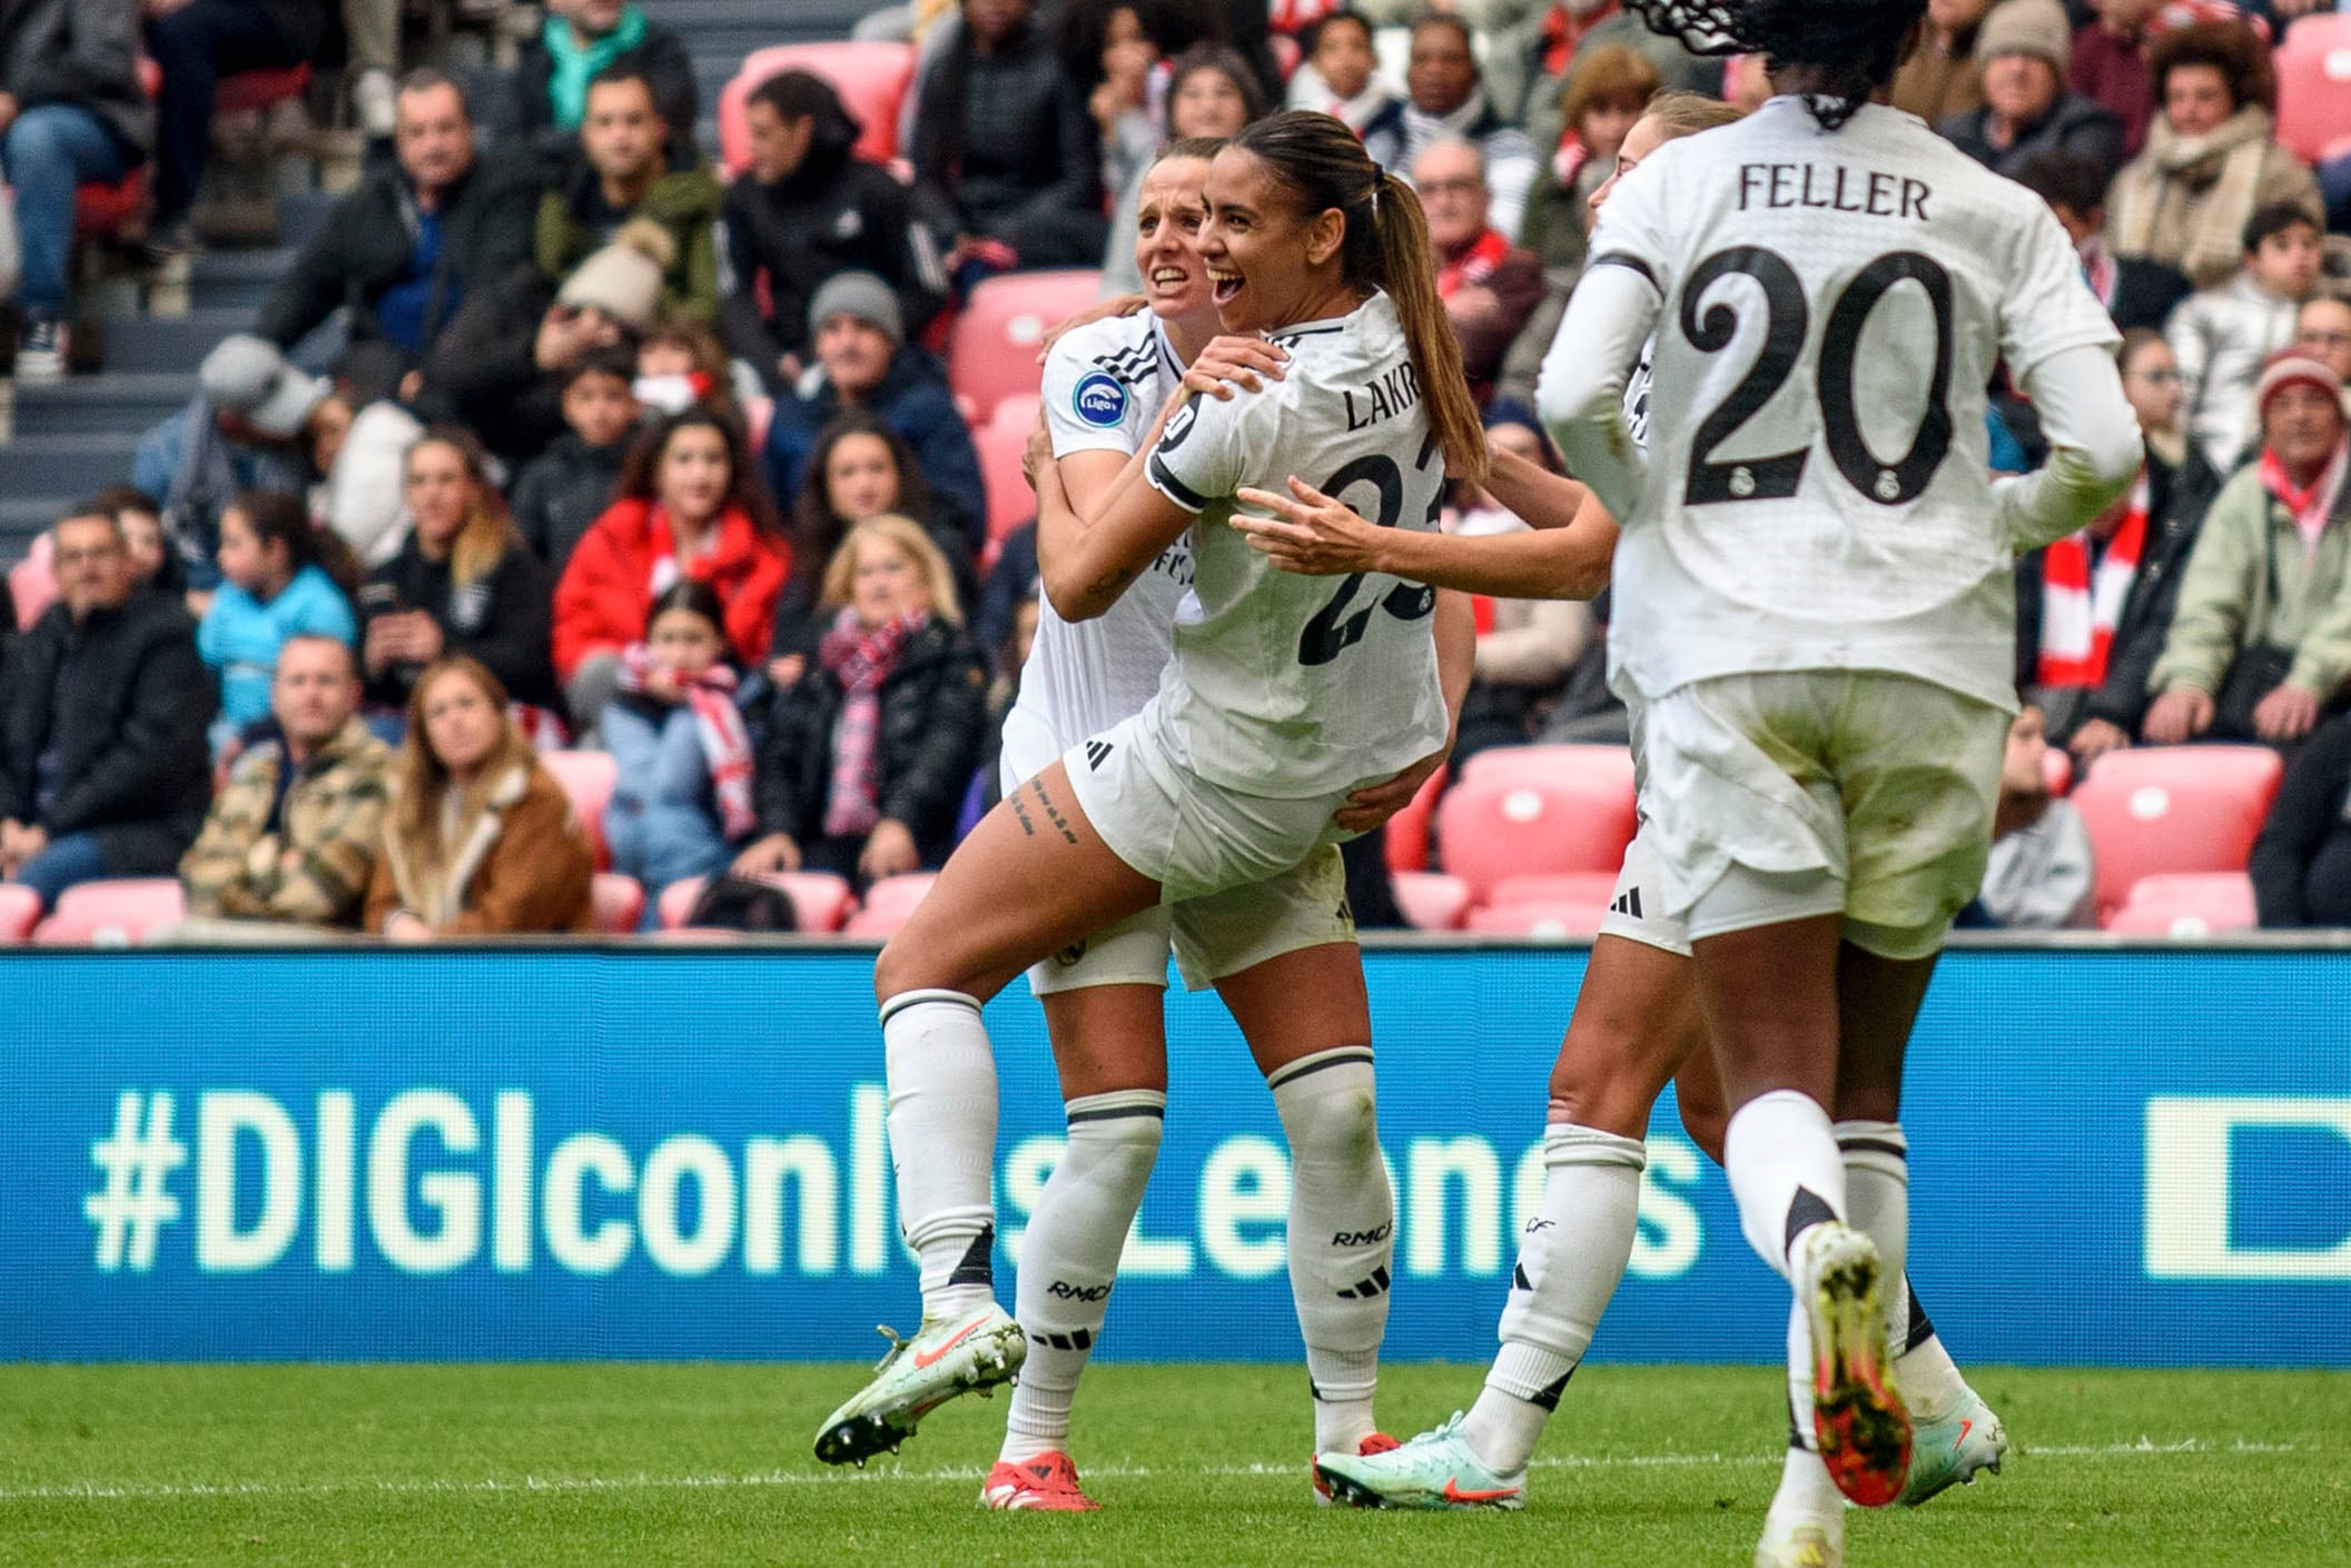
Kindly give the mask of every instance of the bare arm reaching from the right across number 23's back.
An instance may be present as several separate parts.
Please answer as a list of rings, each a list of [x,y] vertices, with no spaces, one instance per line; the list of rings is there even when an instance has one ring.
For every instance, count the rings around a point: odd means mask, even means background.
[[[1498,470],[1505,456],[1495,454]],[[1578,491],[1580,508],[1566,527],[1554,522],[1538,534],[1458,538],[1418,529],[1378,529],[1295,477],[1291,496],[1244,489],[1239,498],[1272,517],[1234,512],[1232,527],[1274,567],[1300,576],[1385,571],[1429,588],[1500,599],[1589,599],[1608,588],[1617,524],[1589,489],[1568,480],[1559,484]]]

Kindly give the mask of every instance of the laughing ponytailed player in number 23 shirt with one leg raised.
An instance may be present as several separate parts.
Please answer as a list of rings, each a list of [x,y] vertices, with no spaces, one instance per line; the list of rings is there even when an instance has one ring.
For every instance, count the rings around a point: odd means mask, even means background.
[[[997,1086],[980,1001],[1159,903],[1288,875],[1354,827],[1357,790],[1434,771],[1467,682],[1467,607],[1439,611],[1434,590],[1392,578],[1333,590],[1277,574],[1225,527],[1244,484],[1293,473],[1324,475],[1324,491],[1359,496],[1385,524],[1434,527],[1446,468],[1483,475],[1418,200],[1342,125],[1310,113],[1241,132],[1208,167],[1206,200],[1199,252],[1218,317],[1286,348],[1286,376],[1230,402],[1185,402],[1084,522],[1058,465],[1037,473],[1060,616],[1105,614],[1187,534],[1192,597],[1157,696],[1006,797],[875,966],[924,1324],[825,1422],[818,1455],[832,1462],[896,1446],[926,1410],[1002,1382],[1025,1354],[987,1265]],[[1253,1041],[1284,1041],[1281,1060],[1260,1046],[1258,1065],[1298,1152],[1293,1291],[1319,1324],[1385,1295],[1392,1201],[1361,969],[1345,945],[1305,954],[1321,954],[1324,985],[1234,976],[1223,992],[1237,1016],[1255,1016]],[[1237,1004],[1237,990],[1265,994]],[[1345,1345],[1310,1326],[1305,1338],[1317,1446],[1349,1448],[1371,1434],[1378,1335]]]

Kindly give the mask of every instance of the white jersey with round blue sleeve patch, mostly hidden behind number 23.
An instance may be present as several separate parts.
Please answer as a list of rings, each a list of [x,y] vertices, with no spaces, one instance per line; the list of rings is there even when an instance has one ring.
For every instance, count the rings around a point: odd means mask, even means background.
[[[1072,329],[1044,364],[1053,456],[1133,454],[1180,383],[1183,367],[1150,310]],[[1053,750],[1013,762],[1041,769],[1086,736],[1140,712],[1176,656],[1176,607],[1190,588],[1192,538],[1185,536],[1096,621],[1063,621],[1039,597],[1037,642],[1020,668],[1013,712],[1041,724]]]

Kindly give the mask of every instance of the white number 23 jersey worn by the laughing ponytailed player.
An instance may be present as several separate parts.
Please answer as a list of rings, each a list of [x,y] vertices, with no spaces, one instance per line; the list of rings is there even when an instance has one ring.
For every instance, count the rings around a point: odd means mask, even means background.
[[[1380,527],[1432,531],[1446,458],[1385,294],[1272,341],[1291,353],[1281,381],[1185,404],[1150,458],[1159,494],[1199,515],[1159,701],[1201,778],[1302,799],[1444,745],[1436,592],[1382,574],[1277,571],[1230,527],[1232,496],[1244,484],[1286,494],[1298,475]]]

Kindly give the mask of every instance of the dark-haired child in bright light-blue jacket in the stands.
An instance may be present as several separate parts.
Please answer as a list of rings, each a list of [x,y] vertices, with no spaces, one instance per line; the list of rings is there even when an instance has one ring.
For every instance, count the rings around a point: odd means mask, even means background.
[[[195,649],[221,679],[212,750],[270,717],[277,649],[296,632],[353,642],[350,599],[327,576],[320,534],[294,496],[245,491],[221,512],[221,588],[195,628]]]

